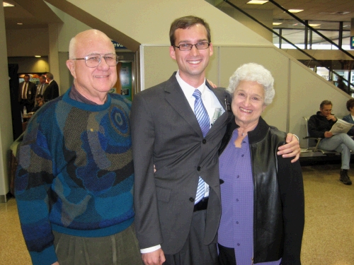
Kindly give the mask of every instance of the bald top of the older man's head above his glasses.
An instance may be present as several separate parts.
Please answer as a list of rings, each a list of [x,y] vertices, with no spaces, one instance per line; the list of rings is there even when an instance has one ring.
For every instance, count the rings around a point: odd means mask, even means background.
[[[81,49],[83,45],[91,46],[91,44],[96,42],[109,42],[112,45],[113,52],[115,50],[110,38],[105,35],[105,33],[100,30],[85,30],[70,40],[69,59],[77,58],[77,51]]]

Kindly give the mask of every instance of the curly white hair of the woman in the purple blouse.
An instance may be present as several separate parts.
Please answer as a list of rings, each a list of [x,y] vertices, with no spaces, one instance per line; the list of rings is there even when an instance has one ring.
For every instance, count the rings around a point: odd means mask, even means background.
[[[249,63],[239,66],[229,79],[227,92],[234,95],[234,91],[241,81],[256,81],[264,88],[264,105],[269,105],[274,98],[274,78],[270,71],[261,64]]]

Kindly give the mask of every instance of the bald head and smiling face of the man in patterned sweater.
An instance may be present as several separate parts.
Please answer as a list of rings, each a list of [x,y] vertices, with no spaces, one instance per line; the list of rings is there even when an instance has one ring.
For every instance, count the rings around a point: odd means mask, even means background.
[[[75,37],[71,59],[67,60],[67,67],[74,76],[75,88],[85,98],[96,102],[97,98],[105,98],[110,88],[117,82],[117,66],[108,66],[105,59],[94,68],[86,66],[84,58],[90,54],[115,54],[110,39],[98,30],[86,30]]]

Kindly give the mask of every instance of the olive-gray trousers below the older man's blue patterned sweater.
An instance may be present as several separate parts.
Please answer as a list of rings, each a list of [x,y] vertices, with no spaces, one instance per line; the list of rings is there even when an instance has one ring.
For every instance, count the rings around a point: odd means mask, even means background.
[[[108,237],[75,237],[53,231],[60,265],[141,265],[134,225]]]

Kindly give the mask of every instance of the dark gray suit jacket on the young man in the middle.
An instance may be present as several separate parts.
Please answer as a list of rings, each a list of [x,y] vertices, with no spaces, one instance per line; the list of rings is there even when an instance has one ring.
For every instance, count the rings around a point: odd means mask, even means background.
[[[175,75],[137,93],[131,110],[137,238],[140,248],[161,244],[165,254],[179,252],[188,237],[199,176],[210,185],[201,240],[205,245],[217,240],[221,215],[217,151],[232,117],[231,110],[225,111],[203,138]],[[224,89],[211,90],[224,108],[225,100],[231,102]]]

